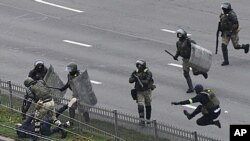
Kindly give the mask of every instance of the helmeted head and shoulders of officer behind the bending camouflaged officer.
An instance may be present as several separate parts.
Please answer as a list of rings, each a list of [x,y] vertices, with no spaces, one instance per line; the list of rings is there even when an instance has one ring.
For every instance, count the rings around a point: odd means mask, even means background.
[[[42,80],[46,75],[48,69],[44,66],[44,62],[42,60],[37,60],[34,63],[34,68],[29,72],[28,77],[33,80]]]

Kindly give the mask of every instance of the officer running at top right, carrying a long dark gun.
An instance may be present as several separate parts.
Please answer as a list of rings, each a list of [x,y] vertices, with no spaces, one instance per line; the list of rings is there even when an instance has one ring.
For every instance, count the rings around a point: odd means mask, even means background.
[[[235,49],[244,49],[245,53],[249,51],[249,44],[239,44],[239,22],[236,13],[228,2],[221,4],[222,13],[220,14],[219,30],[222,32],[221,49],[224,61],[222,66],[229,65],[227,45],[231,40]]]

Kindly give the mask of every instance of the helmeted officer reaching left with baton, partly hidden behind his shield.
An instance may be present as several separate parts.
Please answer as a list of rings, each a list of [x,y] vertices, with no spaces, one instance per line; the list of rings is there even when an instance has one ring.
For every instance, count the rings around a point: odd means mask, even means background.
[[[71,89],[71,86],[70,86],[70,81],[72,81],[74,78],[76,78],[77,76],[80,75],[80,71],[78,70],[77,68],[77,64],[74,63],[74,62],[71,62],[67,65],[66,67],[66,71],[68,71],[68,81],[67,83],[62,87],[60,88],[60,91],[65,91],[67,88],[69,88],[70,90]],[[76,95],[75,93],[72,94],[72,98],[70,100],[70,102],[68,103],[68,108],[69,108],[69,116],[71,118],[70,120],[70,124],[73,125],[73,120],[75,118],[75,110],[77,109],[77,98],[78,98],[78,95]],[[86,122],[89,122],[90,121],[90,118],[89,118],[89,113],[88,111],[85,111],[83,113],[84,115],[84,118],[85,118],[85,121]]]

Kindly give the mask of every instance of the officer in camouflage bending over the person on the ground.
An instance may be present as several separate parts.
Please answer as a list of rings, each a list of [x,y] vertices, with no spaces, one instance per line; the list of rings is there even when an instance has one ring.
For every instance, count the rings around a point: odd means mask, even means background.
[[[33,100],[36,103],[36,111],[34,115],[35,133],[40,133],[40,120],[43,120],[43,117],[46,115],[52,119],[55,125],[60,127],[61,132],[65,132],[61,122],[56,118],[54,100],[46,83],[43,80],[34,81],[33,79],[28,78],[24,81],[24,85],[28,87],[31,94],[34,95]],[[38,138],[33,136],[32,139],[37,140]]]

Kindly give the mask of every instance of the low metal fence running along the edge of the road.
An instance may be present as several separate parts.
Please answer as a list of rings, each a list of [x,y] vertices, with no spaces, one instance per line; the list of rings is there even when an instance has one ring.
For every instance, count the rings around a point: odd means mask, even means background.
[[[0,90],[7,90],[9,93],[10,106],[12,105],[12,93],[15,95],[24,95],[25,88],[21,85],[11,83],[10,81],[0,80]],[[69,100],[62,97],[54,97],[57,104],[66,104]],[[90,133],[105,135],[113,138],[114,140],[127,140],[127,141],[219,141],[218,139],[207,137],[202,134],[192,131],[187,131],[167,125],[158,123],[156,120],[145,120],[145,126],[139,125],[141,119],[120,113],[116,110],[109,110],[97,106],[84,105],[88,109],[90,115],[90,122],[84,123],[79,127],[83,131]],[[81,107],[78,107],[81,111]],[[83,116],[78,112],[78,119],[84,122]],[[83,124],[83,123],[81,123]],[[88,126],[86,126],[88,125]],[[94,128],[92,128],[94,127]],[[97,129],[99,129],[97,131]]]

